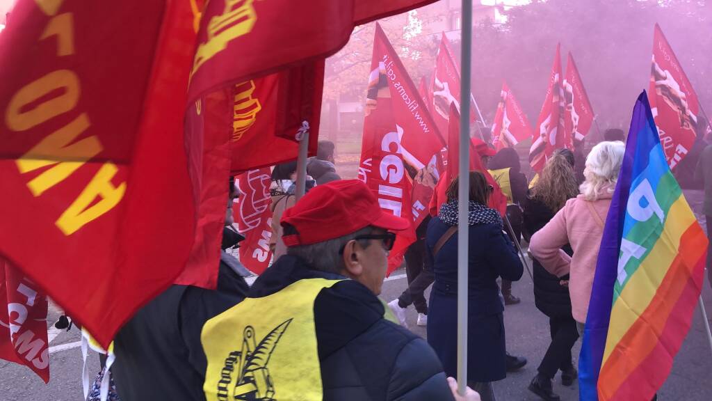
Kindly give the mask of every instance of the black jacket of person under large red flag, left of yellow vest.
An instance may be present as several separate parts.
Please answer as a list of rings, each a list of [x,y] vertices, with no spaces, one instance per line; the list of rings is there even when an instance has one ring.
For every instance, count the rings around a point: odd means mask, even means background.
[[[201,330],[247,291],[245,280],[221,261],[216,290],[172,285],[138,310],[114,339],[111,371],[121,399],[205,400]]]

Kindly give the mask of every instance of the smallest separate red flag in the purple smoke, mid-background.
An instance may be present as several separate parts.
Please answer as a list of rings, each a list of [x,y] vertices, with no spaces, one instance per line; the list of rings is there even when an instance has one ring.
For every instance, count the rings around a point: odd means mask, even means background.
[[[532,136],[527,115],[519,106],[507,83],[502,84],[497,112],[492,123],[492,141],[497,151],[513,148]]]

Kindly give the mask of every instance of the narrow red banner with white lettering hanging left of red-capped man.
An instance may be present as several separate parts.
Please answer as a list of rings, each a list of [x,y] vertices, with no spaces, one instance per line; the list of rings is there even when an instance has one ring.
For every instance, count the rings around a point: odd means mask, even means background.
[[[251,272],[262,274],[272,258],[272,210],[268,167],[250,170],[237,177],[241,196],[235,210],[235,222],[245,239],[240,243],[240,262]]]

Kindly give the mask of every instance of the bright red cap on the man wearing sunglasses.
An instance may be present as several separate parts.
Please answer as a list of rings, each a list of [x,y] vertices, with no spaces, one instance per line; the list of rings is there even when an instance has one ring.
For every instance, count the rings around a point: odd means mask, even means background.
[[[284,235],[287,246],[309,245],[355,233],[369,225],[400,231],[410,222],[384,212],[365,183],[339,180],[315,186],[282,215],[280,224],[298,234]]]

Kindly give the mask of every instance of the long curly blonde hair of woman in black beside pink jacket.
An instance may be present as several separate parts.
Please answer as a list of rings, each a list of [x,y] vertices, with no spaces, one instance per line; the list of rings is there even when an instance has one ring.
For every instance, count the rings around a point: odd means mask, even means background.
[[[534,184],[531,196],[544,203],[554,213],[564,207],[570,198],[578,195],[578,183],[571,163],[560,153],[555,153],[546,161]]]

